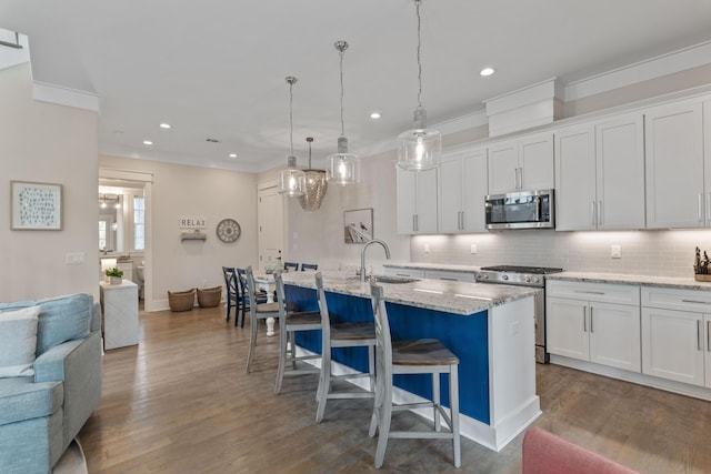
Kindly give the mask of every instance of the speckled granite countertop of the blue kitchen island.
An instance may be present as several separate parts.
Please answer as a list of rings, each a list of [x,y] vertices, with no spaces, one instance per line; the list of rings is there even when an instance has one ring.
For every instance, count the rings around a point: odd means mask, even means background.
[[[361,283],[360,278],[351,272],[324,270],[321,274],[327,291],[370,297],[370,284]],[[283,273],[283,281],[286,284],[316,289],[313,275],[313,272],[289,272]],[[382,285],[385,301],[389,303],[462,315],[475,314],[541,291],[533,288],[428,279],[410,283],[379,284]]]

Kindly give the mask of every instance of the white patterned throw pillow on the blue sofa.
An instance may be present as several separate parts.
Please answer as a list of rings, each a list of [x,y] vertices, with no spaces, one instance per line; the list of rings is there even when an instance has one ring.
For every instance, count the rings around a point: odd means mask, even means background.
[[[0,313],[0,377],[32,376],[39,306]]]

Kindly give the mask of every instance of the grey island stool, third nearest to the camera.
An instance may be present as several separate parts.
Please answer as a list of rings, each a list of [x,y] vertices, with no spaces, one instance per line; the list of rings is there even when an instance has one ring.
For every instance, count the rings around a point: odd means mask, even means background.
[[[296,333],[299,331],[317,331],[321,329],[321,313],[318,311],[290,312],[287,310],[287,296],[281,272],[274,272],[277,286],[277,305],[279,307],[279,369],[274,394],[281,392],[281,384],[286,375],[318,374],[316,366],[299,366],[297,362],[321,359],[319,354],[297,355]],[[287,365],[290,369],[287,370]]]

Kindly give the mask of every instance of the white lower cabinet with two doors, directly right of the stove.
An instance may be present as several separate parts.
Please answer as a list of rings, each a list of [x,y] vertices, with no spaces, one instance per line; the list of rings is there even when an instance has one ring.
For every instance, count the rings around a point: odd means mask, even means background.
[[[548,351],[640,372],[639,294],[631,285],[549,281]]]

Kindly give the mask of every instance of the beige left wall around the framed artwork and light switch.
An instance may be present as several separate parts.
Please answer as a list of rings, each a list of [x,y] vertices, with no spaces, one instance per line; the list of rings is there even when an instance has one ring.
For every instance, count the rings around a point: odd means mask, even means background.
[[[28,63],[0,70],[0,301],[99,294],[96,112],[32,99]],[[61,231],[11,231],[10,181],[63,186]],[[68,265],[66,254],[84,254]]]

